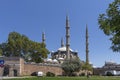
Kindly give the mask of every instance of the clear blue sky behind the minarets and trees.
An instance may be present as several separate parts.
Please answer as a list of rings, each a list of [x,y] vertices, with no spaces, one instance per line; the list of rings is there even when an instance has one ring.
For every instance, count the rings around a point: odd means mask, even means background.
[[[69,15],[71,48],[85,60],[85,28],[89,30],[89,56],[94,66],[105,61],[120,63],[120,54],[110,49],[109,37],[99,29],[98,16],[105,13],[113,0],[0,0],[0,43],[7,40],[12,31],[25,34],[31,40],[41,42],[46,34],[50,51],[65,41],[65,18]]]

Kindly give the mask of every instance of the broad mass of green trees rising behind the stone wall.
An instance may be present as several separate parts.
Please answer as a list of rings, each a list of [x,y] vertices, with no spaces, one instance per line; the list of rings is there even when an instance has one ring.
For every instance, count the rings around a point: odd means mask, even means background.
[[[25,35],[11,32],[7,42],[0,44],[0,53],[7,57],[23,57],[26,61],[41,62],[43,58],[47,58],[49,51],[44,43],[38,43]]]

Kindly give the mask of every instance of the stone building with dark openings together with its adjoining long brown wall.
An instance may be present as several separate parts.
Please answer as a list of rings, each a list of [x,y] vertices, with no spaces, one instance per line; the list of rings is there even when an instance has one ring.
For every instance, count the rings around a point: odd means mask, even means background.
[[[59,64],[45,64],[25,62],[23,58],[19,57],[3,57],[5,63],[4,67],[0,69],[1,76],[30,76],[34,72],[52,72],[55,75],[62,75],[63,70]]]

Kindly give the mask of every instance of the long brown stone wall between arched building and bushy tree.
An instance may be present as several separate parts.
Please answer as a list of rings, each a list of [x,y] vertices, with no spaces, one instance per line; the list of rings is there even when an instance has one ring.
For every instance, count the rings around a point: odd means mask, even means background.
[[[59,65],[44,65],[44,64],[24,64],[23,75],[31,75],[33,72],[42,71],[44,74],[52,72],[55,75],[62,75],[63,70]]]

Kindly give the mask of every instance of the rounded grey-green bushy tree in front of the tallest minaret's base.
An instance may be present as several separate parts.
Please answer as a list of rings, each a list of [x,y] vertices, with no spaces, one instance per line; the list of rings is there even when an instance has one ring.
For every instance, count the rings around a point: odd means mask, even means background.
[[[81,63],[79,59],[69,59],[62,63],[62,69],[67,76],[72,76],[73,72],[79,72]]]

